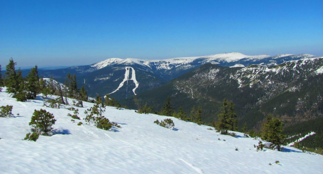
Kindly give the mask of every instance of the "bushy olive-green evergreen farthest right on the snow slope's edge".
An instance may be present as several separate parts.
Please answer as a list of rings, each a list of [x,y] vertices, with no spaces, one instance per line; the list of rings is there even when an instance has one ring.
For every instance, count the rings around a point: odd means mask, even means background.
[[[282,129],[282,126],[284,126],[284,123],[278,118],[272,118],[271,115],[266,117],[266,122],[263,124],[262,128],[262,139],[272,143],[269,148],[274,149],[276,147],[277,150],[280,151],[280,145],[285,139],[285,136],[281,134],[284,130]]]

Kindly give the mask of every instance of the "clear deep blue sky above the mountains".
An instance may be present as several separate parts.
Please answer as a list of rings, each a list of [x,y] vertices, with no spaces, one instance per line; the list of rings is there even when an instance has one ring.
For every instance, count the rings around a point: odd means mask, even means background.
[[[225,52],[323,56],[323,1],[0,0],[0,64]]]

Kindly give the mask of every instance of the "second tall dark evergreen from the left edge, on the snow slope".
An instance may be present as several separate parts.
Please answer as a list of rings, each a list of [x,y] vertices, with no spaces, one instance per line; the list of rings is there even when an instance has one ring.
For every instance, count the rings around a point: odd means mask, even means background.
[[[27,99],[34,99],[40,91],[37,65],[31,68],[31,70],[28,72],[26,80]]]

